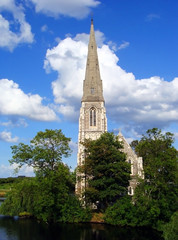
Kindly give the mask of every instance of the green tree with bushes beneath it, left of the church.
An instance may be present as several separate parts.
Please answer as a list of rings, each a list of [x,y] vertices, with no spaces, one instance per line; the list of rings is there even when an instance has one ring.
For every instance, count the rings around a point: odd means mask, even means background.
[[[12,146],[12,160],[19,167],[34,167],[36,177],[14,186],[0,207],[5,215],[28,215],[45,222],[80,222],[90,219],[74,194],[75,172],[64,165],[62,157],[70,154],[70,138],[61,130],[38,132],[30,145]]]

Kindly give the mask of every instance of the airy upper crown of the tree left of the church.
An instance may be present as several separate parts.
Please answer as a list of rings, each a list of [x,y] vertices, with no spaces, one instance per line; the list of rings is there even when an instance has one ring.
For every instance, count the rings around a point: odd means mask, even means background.
[[[70,138],[65,137],[61,130],[40,131],[29,145],[19,143],[11,147],[10,163],[17,163],[19,168],[27,164],[43,174],[53,171],[62,157],[70,155],[69,141]]]

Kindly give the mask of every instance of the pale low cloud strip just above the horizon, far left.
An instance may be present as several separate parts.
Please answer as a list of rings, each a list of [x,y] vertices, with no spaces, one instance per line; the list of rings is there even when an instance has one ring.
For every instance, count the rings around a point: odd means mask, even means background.
[[[27,165],[24,165],[18,173],[15,173],[15,169],[18,167],[17,164],[12,165],[0,165],[0,176],[2,178],[5,177],[16,177],[16,176],[26,176],[26,177],[32,177],[34,176],[34,171],[32,167],[29,167]]]

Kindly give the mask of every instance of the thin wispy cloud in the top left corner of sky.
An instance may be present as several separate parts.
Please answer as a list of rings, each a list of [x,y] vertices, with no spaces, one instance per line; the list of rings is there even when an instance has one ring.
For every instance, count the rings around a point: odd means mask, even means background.
[[[12,14],[13,19],[6,19],[3,11]],[[23,8],[15,3],[15,0],[0,1],[0,47],[12,51],[20,43],[32,43],[34,40],[31,26],[25,20]],[[12,31],[11,29],[15,30]],[[18,29],[18,31],[16,30]]]

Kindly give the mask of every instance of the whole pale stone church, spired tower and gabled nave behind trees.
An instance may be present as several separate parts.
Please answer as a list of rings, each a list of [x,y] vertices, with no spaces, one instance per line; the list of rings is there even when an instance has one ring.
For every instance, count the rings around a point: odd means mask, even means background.
[[[85,139],[96,140],[106,131],[106,109],[92,19],[79,116],[77,166],[81,166],[85,161],[84,146],[81,142],[84,142]],[[126,161],[131,164],[131,180],[129,182],[128,194],[133,195],[138,177],[144,178],[142,158],[137,157],[121,132],[118,134],[118,139],[123,144],[122,151],[126,153]],[[77,173],[77,176],[79,176],[79,173]],[[85,176],[80,175],[79,179],[76,183],[76,194],[80,195],[85,190],[86,183]]]

